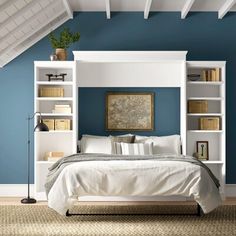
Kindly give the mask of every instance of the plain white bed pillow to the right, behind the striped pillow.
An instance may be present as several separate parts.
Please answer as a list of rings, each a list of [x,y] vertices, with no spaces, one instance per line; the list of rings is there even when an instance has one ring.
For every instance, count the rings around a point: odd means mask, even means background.
[[[153,154],[181,154],[180,135],[135,136],[135,143],[153,143]]]

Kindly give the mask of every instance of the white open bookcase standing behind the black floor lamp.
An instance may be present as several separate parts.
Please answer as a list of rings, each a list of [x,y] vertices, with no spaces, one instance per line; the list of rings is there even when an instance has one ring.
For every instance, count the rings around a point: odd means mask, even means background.
[[[37,200],[46,200],[44,189],[45,178],[52,161],[45,161],[46,152],[63,151],[64,155],[77,152],[77,87],[76,62],[74,61],[36,61],[34,63],[34,111],[41,112],[42,118],[70,119],[71,130],[53,130],[49,132],[35,132],[34,135],[34,163],[35,163],[35,197]],[[46,74],[66,73],[65,81],[48,81]],[[64,97],[39,97],[39,88],[59,87],[64,89]],[[53,113],[55,104],[69,104],[71,113]],[[35,116],[37,124],[39,115]]]

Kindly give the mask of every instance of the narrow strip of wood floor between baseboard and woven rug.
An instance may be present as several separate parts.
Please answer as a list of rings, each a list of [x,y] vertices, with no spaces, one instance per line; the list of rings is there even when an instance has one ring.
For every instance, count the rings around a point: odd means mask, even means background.
[[[0,205],[21,205],[19,197],[0,197]],[[78,202],[79,205],[192,205],[194,201],[176,201],[176,202]],[[35,205],[47,205],[46,201],[38,201]],[[236,205],[236,197],[228,197],[224,201],[224,205]]]

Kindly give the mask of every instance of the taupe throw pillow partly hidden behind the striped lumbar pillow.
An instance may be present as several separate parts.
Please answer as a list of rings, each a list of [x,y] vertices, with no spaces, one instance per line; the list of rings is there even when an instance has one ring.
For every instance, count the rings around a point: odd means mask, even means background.
[[[122,153],[121,145],[119,145],[119,143],[133,143],[134,137],[135,136],[131,134],[120,135],[120,136],[110,136],[112,154],[121,154]]]

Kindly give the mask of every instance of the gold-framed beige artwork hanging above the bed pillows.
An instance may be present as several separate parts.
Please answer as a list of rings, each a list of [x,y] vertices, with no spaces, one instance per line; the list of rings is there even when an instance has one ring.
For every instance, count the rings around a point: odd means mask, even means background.
[[[154,93],[108,92],[106,94],[106,129],[153,130]]]

